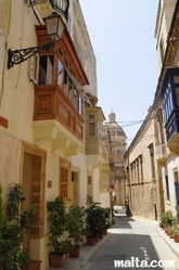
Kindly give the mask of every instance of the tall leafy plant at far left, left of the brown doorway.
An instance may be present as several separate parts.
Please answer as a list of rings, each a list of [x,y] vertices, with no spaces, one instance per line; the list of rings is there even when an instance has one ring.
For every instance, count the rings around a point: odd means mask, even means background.
[[[23,248],[25,234],[29,232],[37,209],[29,206],[21,211],[23,190],[14,183],[9,193],[7,220],[1,227],[1,248],[4,257],[3,270],[20,270],[30,263],[29,250]]]

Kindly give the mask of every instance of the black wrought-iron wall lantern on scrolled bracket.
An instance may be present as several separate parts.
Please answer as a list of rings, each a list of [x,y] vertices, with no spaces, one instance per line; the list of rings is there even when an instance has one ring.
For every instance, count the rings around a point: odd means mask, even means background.
[[[52,15],[43,18],[43,21],[46,24],[48,37],[50,38],[51,42],[43,43],[39,47],[31,47],[15,51],[11,51],[11,49],[9,49],[7,64],[8,69],[13,67],[13,65],[21,64],[22,62],[26,61],[40,51],[50,51],[53,48],[54,43],[62,38],[65,25],[61,15],[59,15],[57,13],[53,13]]]

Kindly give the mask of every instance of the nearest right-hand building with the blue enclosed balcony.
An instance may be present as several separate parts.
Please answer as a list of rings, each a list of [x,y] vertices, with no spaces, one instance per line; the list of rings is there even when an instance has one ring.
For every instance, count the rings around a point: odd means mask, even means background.
[[[155,138],[161,155],[157,164],[158,175],[163,182],[163,190],[161,190],[161,195],[163,195],[162,211],[171,210],[174,215],[178,214],[179,216],[176,208],[179,207],[179,151],[177,142],[179,117],[176,102],[178,86],[175,81],[179,74],[178,14],[178,1],[159,1],[155,27],[159,77],[153,106],[156,111]]]

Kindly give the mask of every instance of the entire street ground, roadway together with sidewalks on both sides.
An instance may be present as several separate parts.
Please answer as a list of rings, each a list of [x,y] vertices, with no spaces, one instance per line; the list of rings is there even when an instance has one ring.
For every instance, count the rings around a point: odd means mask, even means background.
[[[179,270],[179,243],[169,239],[159,228],[158,222],[126,216],[115,217],[115,226],[108,229],[107,235],[94,246],[82,247],[79,258],[66,257],[63,267],[59,270],[113,270],[117,268],[117,265],[114,267],[114,261],[131,261],[135,258],[148,262],[172,260],[175,267],[155,267],[154,269]],[[130,267],[120,267],[120,269],[138,268],[130,265]],[[57,269],[49,268],[48,270]]]

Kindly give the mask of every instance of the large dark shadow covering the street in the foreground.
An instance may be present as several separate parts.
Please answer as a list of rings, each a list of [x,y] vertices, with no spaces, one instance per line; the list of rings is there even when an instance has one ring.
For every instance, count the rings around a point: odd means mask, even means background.
[[[154,267],[150,267],[152,261],[154,261]],[[157,266],[158,261],[158,255],[149,235],[112,233],[105,245],[90,259],[90,266],[91,269],[94,269],[92,266],[95,266],[95,269],[99,270],[141,269],[139,263],[143,263],[143,269],[164,269]],[[122,263],[120,267],[117,267],[117,263]]]

